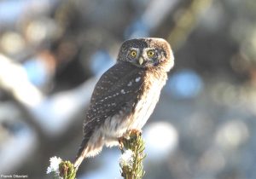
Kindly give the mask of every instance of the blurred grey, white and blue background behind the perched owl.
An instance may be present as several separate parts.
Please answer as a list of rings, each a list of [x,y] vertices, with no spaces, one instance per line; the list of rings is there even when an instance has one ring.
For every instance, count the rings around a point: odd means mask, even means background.
[[[140,37],[166,38],[176,59],[143,128],[144,178],[255,179],[253,0],[1,0],[0,174],[73,161],[97,78]],[[121,178],[119,155],[104,148],[78,178]]]

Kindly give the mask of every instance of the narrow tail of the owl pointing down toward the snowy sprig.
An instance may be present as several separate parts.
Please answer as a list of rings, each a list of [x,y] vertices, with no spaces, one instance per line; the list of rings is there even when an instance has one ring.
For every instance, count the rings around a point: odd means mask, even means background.
[[[84,139],[80,145],[80,148],[79,148],[79,153],[77,154],[77,157],[73,163],[74,167],[77,170],[79,169],[79,165],[81,165],[84,158],[86,157],[86,154],[88,153],[88,147],[87,147],[88,141],[89,141],[89,137],[84,137]]]

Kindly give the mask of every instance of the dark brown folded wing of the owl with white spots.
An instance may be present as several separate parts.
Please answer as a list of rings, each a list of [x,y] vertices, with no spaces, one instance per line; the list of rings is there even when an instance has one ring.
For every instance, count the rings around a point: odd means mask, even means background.
[[[126,113],[131,113],[143,93],[143,73],[137,66],[119,62],[102,75],[84,120],[84,136],[124,108]]]

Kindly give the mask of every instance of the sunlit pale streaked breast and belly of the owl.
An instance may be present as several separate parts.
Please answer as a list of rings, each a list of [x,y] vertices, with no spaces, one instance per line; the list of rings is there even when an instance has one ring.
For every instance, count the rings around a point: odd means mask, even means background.
[[[130,117],[131,124],[128,130],[141,130],[148,118],[154,111],[154,107],[160,98],[160,91],[166,84],[166,73],[161,75],[147,74],[148,79],[143,83],[143,94],[135,107],[134,113]]]

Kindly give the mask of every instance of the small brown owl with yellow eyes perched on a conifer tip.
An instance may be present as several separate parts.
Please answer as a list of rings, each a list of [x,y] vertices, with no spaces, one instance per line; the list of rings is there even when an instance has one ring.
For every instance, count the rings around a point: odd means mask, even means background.
[[[117,146],[120,137],[143,128],[173,65],[172,49],[162,38],[122,43],[116,64],[102,75],[91,96],[76,168],[104,145]]]

